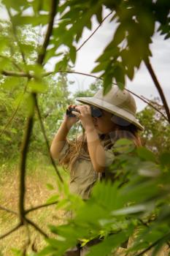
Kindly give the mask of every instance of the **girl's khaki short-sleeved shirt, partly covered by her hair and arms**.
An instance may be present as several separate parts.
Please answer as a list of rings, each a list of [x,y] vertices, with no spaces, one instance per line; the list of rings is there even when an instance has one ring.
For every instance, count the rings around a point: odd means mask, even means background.
[[[101,144],[104,146],[103,141],[101,141]],[[115,156],[112,152],[112,148],[104,149],[107,167],[113,162]],[[68,141],[66,141],[65,145],[63,146],[63,149],[61,150],[59,160],[63,159],[69,150],[70,145]],[[92,162],[90,161],[90,159],[88,159],[88,154],[85,151],[82,151],[82,153],[83,155],[87,156],[87,159],[85,159],[85,157],[81,157],[80,155],[80,157],[74,163],[74,170],[72,170],[72,172],[70,173],[69,189],[70,192],[80,195],[82,199],[87,200],[90,197],[90,192],[93,185],[100,178],[101,173],[97,173],[93,169]]]

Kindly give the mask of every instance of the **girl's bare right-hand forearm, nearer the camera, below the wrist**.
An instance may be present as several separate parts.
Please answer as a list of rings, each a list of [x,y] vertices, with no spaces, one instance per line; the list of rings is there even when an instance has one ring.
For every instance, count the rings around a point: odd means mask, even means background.
[[[104,171],[106,157],[104,147],[101,145],[101,141],[98,137],[98,133],[95,128],[86,129],[86,136],[88,142],[88,151],[90,159],[93,164],[94,170],[98,173]]]

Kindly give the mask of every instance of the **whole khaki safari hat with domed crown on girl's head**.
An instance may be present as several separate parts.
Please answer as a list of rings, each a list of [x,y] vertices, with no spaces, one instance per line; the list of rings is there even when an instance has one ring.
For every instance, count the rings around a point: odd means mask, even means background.
[[[103,89],[100,89],[93,97],[77,97],[76,100],[113,113],[134,124],[140,130],[144,130],[144,127],[136,119],[134,97],[125,89],[122,91],[118,86],[112,86],[112,89],[105,95],[103,95]]]

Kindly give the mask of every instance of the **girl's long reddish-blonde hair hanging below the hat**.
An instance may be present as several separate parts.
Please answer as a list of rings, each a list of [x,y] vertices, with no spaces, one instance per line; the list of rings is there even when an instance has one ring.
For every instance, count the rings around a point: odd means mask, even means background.
[[[127,138],[129,140],[132,140],[136,147],[142,146],[141,140],[139,138],[139,129],[134,124],[128,123],[128,125],[126,126],[120,126],[116,124],[115,127],[115,130],[109,132],[107,135],[99,135],[100,140],[104,140],[104,148],[112,148],[114,143],[121,138]],[[78,129],[79,127],[77,128],[77,133]],[[77,137],[76,135],[76,139],[74,141],[67,141],[69,143],[70,149],[69,151],[67,151],[65,157],[61,159],[59,164],[69,168],[69,170],[72,171],[74,163],[80,156],[84,159],[90,159],[85,130],[82,129],[82,135],[80,135],[79,137]]]

